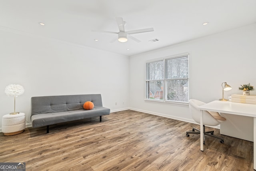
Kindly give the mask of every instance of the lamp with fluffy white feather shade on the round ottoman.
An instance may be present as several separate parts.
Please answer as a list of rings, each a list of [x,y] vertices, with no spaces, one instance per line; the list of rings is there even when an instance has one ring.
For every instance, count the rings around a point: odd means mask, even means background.
[[[16,115],[20,112],[15,112],[15,99],[16,97],[18,97],[18,95],[22,95],[24,93],[24,88],[22,87],[22,85],[19,84],[10,84],[8,86],[5,87],[5,93],[10,96],[13,95],[14,96],[14,112],[10,113],[10,115]]]

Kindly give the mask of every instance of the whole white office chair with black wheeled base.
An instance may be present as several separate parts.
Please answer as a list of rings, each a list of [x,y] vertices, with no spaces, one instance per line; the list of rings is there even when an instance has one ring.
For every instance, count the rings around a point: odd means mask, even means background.
[[[197,123],[200,123],[200,115],[201,115],[201,111],[199,109],[197,109],[198,106],[205,104],[202,101],[196,100],[196,99],[190,99],[188,101],[189,103],[189,112],[192,115],[194,121],[196,121]],[[203,123],[204,125],[208,125],[208,126],[216,126],[219,125],[220,123],[226,121],[225,117],[220,116],[220,114],[218,112],[214,112],[214,111],[203,111]],[[195,131],[196,130],[196,131]],[[224,139],[221,137],[217,137],[215,135],[213,135],[214,131],[205,131],[205,126],[204,126],[204,135],[208,135],[214,138],[218,138],[220,139],[220,143],[224,143]],[[190,133],[195,133],[195,134],[200,134],[200,130],[196,129],[196,128],[192,128],[192,131],[187,131],[186,135],[187,137],[189,137]],[[204,141],[205,143],[205,141]]]

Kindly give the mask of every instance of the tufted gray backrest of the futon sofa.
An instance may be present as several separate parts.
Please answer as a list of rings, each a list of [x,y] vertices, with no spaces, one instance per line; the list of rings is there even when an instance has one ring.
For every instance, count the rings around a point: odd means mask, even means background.
[[[31,97],[31,115],[84,109],[86,101],[92,101],[94,107],[102,107],[100,94]]]

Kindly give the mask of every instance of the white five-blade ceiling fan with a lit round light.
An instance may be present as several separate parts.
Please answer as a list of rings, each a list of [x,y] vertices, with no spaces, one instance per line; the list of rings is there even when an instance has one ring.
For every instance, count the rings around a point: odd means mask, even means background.
[[[140,30],[130,30],[128,32],[126,32],[124,30],[124,26],[126,24],[126,22],[123,21],[122,17],[116,17],[116,22],[119,28],[119,32],[108,32],[108,31],[102,31],[102,30],[92,30],[92,32],[103,32],[103,33],[112,33],[112,34],[118,34],[118,41],[119,42],[127,42],[128,38],[127,36],[129,35],[129,37],[136,41],[136,42],[141,42],[140,40],[134,38],[133,36],[130,36],[131,34],[138,34],[138,33],[144,33],[144,32],[152,32],[154,31],[153,28],[144,28],[144,29],[140,29]],[[114,42],[116,39],[112,40],[111,42]]]

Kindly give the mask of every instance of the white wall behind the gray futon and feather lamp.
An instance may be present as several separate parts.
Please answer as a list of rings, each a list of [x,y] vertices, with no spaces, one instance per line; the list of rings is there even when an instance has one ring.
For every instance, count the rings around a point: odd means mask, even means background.
[[[4,93],[9,84],[25,89],[16,111],[26,113],[27,121],[33,96],[101,93],[112,112],[129,107],[127,56],[3,28],[0,38],[1,119],[14,110],[14,97]]]

